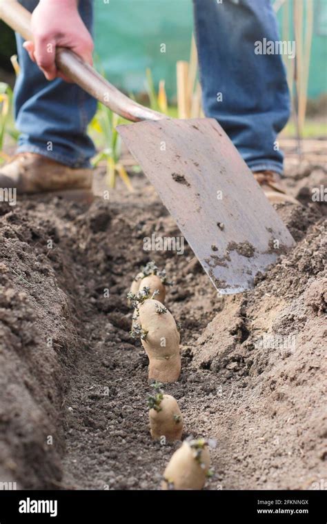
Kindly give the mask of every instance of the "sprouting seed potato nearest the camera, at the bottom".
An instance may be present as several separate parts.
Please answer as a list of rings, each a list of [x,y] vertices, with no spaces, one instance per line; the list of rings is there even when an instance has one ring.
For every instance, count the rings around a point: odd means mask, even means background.
[[[184,441],[170,458],[162,490],[201,490],[204,487],[210,467],[210,452],[204,442]]]

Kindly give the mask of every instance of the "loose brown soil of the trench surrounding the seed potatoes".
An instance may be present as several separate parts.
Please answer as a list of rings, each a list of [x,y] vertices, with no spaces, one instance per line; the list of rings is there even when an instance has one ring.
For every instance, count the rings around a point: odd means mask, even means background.
[[[179,232],[141,175],[135,194],[119,187],[90,208],[1,204],[0,481],[158,489],[178,444],[150,439],[147,358],[126,305],[151,259],[174,282],[166,305],[181,323],[181,379],[166,392],[185,436],[217,439],[206,489],[326,480],[326,204],[310,199],[326,173],[290,174],[303,205],[278,212],[297,245],[254,290],[226,298],[187,245],[143,251],[143,237]]]

